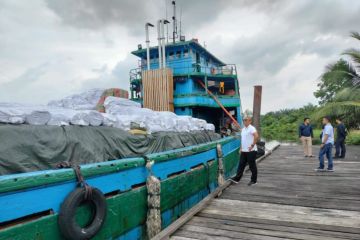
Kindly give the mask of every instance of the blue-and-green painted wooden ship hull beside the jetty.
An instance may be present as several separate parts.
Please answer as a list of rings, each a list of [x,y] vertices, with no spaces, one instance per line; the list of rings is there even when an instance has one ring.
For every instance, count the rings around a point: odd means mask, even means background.
[[[228,137],[206,144],[146,155],[161,180],[161,219],[166,228],[218,186],[221,145],[224,177],[236,172],[240,141]],[[106,196],[107,216],[93,239],[146,239],[148,211],[144,158],[81,166],[86,182]],[[58,228],[61,203],[76,188],[72,169],[0,177],[0,239],[63,239]],[[80,208],[77,219],[87,219]]]

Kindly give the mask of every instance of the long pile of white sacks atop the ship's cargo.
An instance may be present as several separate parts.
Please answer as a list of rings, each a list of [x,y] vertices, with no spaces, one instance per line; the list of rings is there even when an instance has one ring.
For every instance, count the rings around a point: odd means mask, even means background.
[[[0,123],[108,126],[125,131],[130,130],[131,123],[136,123],[148,133],[215,130],[214,125],[205,120],[141,108],[139,103],[118,97],[107,97],[104,103],[106,113],[100,113],[95,108],[103,92],[104,89],[93,89],[47,105],[0,103]]]

